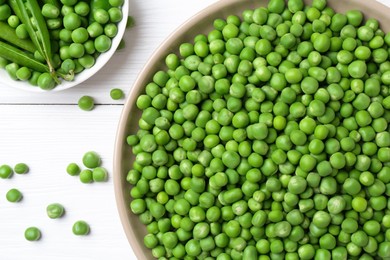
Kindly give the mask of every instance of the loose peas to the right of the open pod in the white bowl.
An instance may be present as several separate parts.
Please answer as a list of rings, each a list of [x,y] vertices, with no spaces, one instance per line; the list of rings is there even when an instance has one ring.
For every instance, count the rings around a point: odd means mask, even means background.
[[[62,26],[50,28],[48,24],[50,29],[55,30],[53,38],[59,41],[61,68],[65,72],[90,68],[100,53],[110,49],[111,39],[118,33],[116,24],[123,18],[121,10],[123,0],[94,0],[90,4],[76,0],[61,0],[61,3],[63,4],[61,10],[48,12],[49,16],[42,9],[42,14],[46,18],[57,18],[50,17],[51,13],[62,15]]]

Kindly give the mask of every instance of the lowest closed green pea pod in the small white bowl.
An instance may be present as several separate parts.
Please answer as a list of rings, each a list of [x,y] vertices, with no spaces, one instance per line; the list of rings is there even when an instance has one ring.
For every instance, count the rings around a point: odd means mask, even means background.
[[[16,64],[23,64],[23,66],[38,72],[49,72],[48,66],[36,61],[18,48],[4,42],[0,42],[0,56]]]

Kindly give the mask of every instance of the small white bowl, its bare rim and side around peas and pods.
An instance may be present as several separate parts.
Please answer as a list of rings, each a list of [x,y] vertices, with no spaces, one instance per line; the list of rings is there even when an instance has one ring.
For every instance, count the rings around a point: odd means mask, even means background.
[[[85,69],[81,73],[77,74],[74,80],[72,81],[62,80],[61,84],[57,85],[54,89],[50,91],[46,91],[46,90],[42,90],[39,87],[30,85],[28,82],[13,80],[10,78],[10,76],[4,69],[0,69],[0,85],[6,85],[9,87],[26,90],[26,91],[32,91],[32,92],[53,92],[53,91],[56,92],[56,91],[61,91],[81,84],[82,82],[86,81],[87,79],[95,75],[101,68],[103,68],[104,65],[106,65],[106,63],[110,60],[110,58],[115,53],[123,37],[123,34],[125,33],[127,17],[129,16],[129,0],[124,1],[122,6],[122,14],[123,14],[123,19],[117,24],[118,34],[112,39],[111,48],[107,52],[100,54],[99,57],[96,59],[95,64],[91,68]]]

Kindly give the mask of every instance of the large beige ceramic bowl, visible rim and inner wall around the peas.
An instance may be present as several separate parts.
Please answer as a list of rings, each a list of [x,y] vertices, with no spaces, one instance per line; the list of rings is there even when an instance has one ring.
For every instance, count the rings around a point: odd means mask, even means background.
[[[311,1],[305,0],[306,3]],[[166,69],[164,59],[169,53],[178,53],[180,43],[192,42],[195,35],[208,33],[212,29],[213,20],[226,18],[230,14],[241,15],[245,9],[253,9],[266,6],[267,0],[221,0],[205,10],[201,11],[181,27],[179,27],[168,39],[156,50],[136,80],[130,95],[126,100],[125,107],[119,122],[114,154],[114,184],[115,195],[119,215],[126,236],[139,260],[154,259],[151,251],[143,244],[146,228],[129,208],[130,185],[126,182],[127,172],[131,169],[134,159],[131,148],[126,144],[126,137],[136,133],[140,111],[135,102],[137,97],[144,92],[145,85],[151,81],[153,74],[161,69]],[[362,10],[365,18],[376,18],[381,22],[381,28],[390,31],[390,8],[375,0],[328,0],[328,5],[337,12],[345,12],[351,9]]]

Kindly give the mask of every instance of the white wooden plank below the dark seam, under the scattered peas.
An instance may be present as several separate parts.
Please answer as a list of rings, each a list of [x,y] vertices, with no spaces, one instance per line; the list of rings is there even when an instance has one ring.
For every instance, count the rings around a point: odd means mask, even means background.
[[[26,175],[0,180],[0,258],[135,259],[117,214],[112,183],[113,144],[120,106],[84,112],[76,106],[0,106],[0,164],[27,163]],[[110,172],[107,183],[82,184],[69,176],[68,163],[81,165],[84,152],[98,152]],[[9,203],[6,192],[20,189],[23,200]],[[50,219],[46,206],[58,202],[66,214]],[[83,219],[91,234],[77,237],[72,225]],[[24,239],[37,226],[39,242]],[[23,250],[21,250],[23,249]]]

